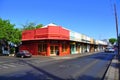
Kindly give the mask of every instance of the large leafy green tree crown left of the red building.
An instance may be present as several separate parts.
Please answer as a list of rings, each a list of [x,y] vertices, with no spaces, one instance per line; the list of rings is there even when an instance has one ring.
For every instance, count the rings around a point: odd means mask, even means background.
[[[6,39],[13,43],[19,43],[21,40],[21,30],[14,28],[15,24],[11,24],[9,20],[0,18],[0,39]]]

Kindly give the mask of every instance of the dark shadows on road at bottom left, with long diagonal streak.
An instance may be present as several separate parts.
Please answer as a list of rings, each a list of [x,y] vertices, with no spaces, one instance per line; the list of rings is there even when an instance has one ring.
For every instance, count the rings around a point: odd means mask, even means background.
[[[19,72],[15,73],[15,75],[4,75],[0,76],[0,80],[63,80],[62,78],[59,78],[53,74],[48,73],[47,71],[40,69],[24,60],[19,60],[20,62],[23,62],[30,67],[37,70],[39,73],[36,74],[34,71],[26,71],[26,72]]]

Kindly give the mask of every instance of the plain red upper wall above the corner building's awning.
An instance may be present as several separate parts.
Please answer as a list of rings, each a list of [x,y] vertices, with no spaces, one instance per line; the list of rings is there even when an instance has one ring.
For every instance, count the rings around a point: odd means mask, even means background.
[[[43,39],[69,40],[69,31],[60,26],[48,26],[22,33],[22,41]]]

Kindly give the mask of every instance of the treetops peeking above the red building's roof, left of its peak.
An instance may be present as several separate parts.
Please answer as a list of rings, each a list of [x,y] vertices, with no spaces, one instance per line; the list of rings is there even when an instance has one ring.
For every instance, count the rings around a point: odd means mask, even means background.
[[[43,24],[38,24],[36,25],[34,22],[26,23],[23,26],[22,30],[32,30],[32,29],[37,29],[43,27]]]

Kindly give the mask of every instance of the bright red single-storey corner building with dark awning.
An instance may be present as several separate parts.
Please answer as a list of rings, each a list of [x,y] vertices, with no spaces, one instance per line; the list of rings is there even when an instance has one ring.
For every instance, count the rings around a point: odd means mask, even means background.
[[[20,49],[28,50],[33,55],[68,55],[70,54],[69,35],[69,30],[54,24],[35,30],[25,30],[22,33]]]

